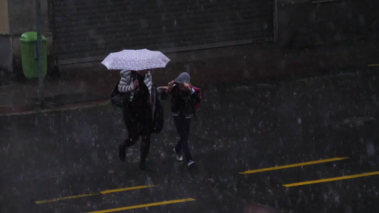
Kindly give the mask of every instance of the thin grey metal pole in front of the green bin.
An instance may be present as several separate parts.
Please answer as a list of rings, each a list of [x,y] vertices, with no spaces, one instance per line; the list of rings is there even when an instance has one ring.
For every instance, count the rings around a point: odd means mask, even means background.
[[[39,83],[39,89],[38,89],[38,98],[39,98],[39,108],[44,108],[44,67],[42,65],[42,21],[41,21],[41,0],[36,0],[36,28],[37,28],[37,58],[38,58],[38,70],[39,70],[39,76],[38,76],[38,83]]]

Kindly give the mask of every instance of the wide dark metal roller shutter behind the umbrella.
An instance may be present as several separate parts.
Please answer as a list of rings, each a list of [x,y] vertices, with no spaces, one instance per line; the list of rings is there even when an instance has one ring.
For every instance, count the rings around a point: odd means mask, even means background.
[[[271,0],[53,0],[50,10],[59,64],[273,39]]]

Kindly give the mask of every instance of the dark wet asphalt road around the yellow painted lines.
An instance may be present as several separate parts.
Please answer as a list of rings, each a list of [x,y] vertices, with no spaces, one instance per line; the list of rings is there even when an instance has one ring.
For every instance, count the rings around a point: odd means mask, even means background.
[[[191,129],[191,172],[172,156],[177,133],[167,107],[148,173],[137,169],[139,144],[127,163],[118,160],[126,132],[112,107],[2,116],[0,209],[93,212],[194,199],[109,212],[378,212],[379,175],[283,186],[379,171],[377,85],[370,73],[208,89]],[[348,159],[239,174],[336,157]],[[95,194],[34,202],[86,193]]]

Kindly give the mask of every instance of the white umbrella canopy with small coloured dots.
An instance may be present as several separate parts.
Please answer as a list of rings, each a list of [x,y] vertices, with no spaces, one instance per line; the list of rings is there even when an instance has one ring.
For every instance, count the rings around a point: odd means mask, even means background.
[[[122,50],[111,53],[102,61],[108,69],[144,70],[166,67],[170,62],[163,53],[159,51],[142,50]]]

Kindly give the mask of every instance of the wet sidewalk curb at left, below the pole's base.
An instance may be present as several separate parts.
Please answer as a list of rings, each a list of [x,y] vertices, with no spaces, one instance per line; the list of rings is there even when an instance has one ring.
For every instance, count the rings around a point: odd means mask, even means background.
[[[35,114],[35,113],[48,113],[53,111],[67,111],[67,110],[78,110],[78,109],[85,109],[85,108],[92,108],[92,107],[98,107],[98,106],[105,106],[108,105],[109,100],[108,99],[102,99],[97,101],[90,101],[90,102],[81,102],[81,103],[72,103],[67,105],[61,105],[58,107],[54,107],[52,109],[45,109],[45,110],[36,110],[32,109],[32,107],[17,107],[17,108],[5,108],[5,110],[0,109],[0,116],[18,116],[18,115],[25,115],[25,114]]]

